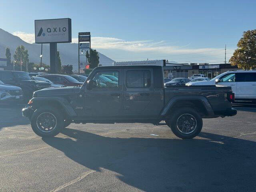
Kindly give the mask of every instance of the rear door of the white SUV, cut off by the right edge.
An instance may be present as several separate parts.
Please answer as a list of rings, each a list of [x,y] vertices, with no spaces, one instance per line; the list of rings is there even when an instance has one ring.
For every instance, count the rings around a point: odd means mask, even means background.
[[[236,97],[256,99],[256,72],[236,73]]]

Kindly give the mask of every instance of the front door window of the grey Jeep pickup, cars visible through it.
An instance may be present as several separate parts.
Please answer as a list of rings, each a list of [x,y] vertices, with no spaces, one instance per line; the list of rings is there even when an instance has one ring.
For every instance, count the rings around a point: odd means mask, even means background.
[[[119,84],[118,75],[118,71],[98,71],[92,80],[95,88],[117,88]],[[115,79],[115,81],[112,79]]]

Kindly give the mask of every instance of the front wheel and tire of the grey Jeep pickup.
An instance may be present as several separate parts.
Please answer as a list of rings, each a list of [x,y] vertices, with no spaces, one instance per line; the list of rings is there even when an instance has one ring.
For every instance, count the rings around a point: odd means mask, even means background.
[[[40,137],[53,137],[58,135],[64,127],[64,118],[58,109],[44,106],[32,114],[31,127]]]

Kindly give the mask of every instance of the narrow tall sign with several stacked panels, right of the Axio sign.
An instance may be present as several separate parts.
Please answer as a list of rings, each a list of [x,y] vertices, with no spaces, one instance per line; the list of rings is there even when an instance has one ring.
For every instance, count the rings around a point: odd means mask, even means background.
[[[86,52],[91,49],[91,33],[78,33],[78,73],[85,73],[85,68],[89,64],[86,58]],[[81,56],[81,59],[80,59]]]

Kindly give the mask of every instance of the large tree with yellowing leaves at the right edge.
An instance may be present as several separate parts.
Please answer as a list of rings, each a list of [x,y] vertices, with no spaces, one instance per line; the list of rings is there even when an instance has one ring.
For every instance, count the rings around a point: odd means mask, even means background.
[[[244,70],[256,68],[256,30],[245,31],[237,47],[229,60],[230,64]]]

